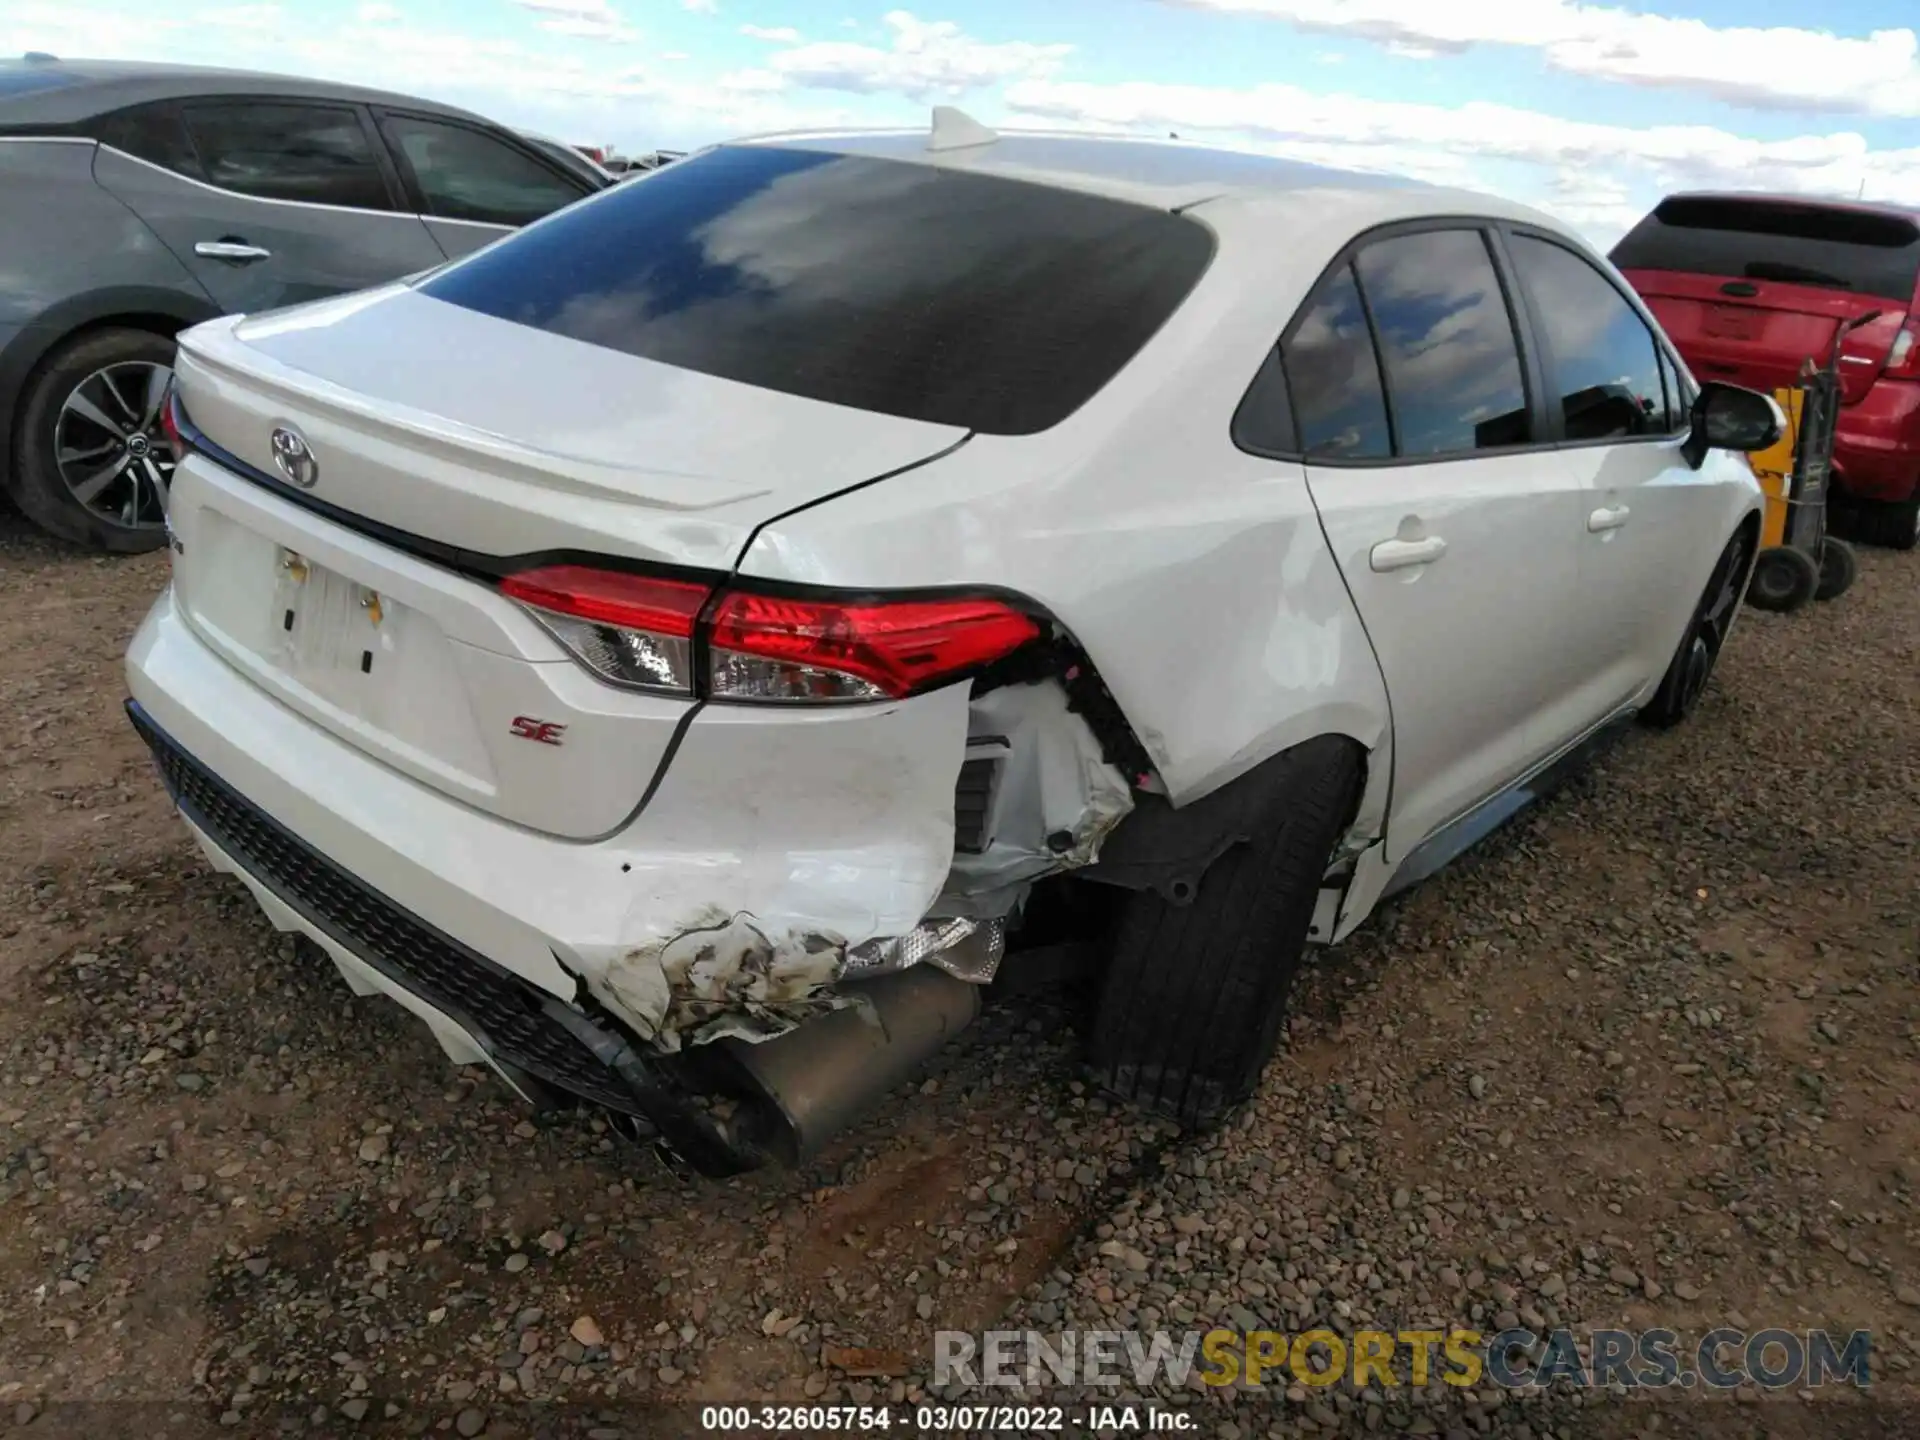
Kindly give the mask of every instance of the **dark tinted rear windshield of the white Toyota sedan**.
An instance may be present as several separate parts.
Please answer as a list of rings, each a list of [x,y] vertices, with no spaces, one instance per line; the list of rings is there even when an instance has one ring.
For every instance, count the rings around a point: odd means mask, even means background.
[[[1210,230],[1146,205],[724,146],[420,290],[703,374],[1016,436],[1114,378],[1212,255]]]

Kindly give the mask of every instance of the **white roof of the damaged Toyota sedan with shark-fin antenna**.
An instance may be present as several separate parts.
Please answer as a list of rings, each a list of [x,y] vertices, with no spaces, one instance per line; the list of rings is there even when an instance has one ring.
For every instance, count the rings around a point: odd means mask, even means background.
[[[964,119],[964,117],[962,117]],[[966,121],[972,125],[972,121]],[[935,121],[935,132],[939,121]],[[1415,213],[1465,213],[1549,225],[1555,221],[1494,196],[1428,184],[1402,175],[1334,169],[1248,150],[1225,150],[1188,140],[1146,140],[1083,131],[983,131],[989,138],[964,148],[929,150],[933,132],[912,131],[791,131],[735,144],[791,146],[847,156],[941,165],[1006,179],[1089,190],[1162,209],[1240,198],[1273,200],[1306,190],[1338,192],[1348,209],[1379,211],[1380,219]]]

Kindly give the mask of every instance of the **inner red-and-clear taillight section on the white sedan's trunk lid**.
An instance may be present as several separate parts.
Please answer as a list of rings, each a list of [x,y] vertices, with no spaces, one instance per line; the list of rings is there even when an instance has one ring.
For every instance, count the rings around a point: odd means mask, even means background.
[[[499,589],[601,680],[693,693],[693,622],[707,605],[707,586],[549,564],[509,576]]]

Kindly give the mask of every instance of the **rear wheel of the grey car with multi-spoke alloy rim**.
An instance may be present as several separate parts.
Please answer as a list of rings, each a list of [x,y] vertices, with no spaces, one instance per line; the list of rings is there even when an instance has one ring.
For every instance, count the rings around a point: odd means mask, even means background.
[[[167,543],[173,451],[157,411],[148,413],[156,374],[173,374],[173,342],[121,326],[75,336],[38,365],[23,392],[10,484],[29,520],[109,555]]]

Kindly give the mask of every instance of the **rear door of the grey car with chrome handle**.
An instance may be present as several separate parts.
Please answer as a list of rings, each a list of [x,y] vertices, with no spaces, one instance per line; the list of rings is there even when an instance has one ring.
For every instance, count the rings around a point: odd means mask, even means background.
[[[445,255],[359,106],[280,98],[146,106],[100,127],[94,179],[221,309],[263,311],[396,280]],[[125,146],[136,146],[125,150]]]

